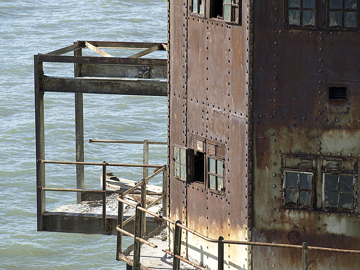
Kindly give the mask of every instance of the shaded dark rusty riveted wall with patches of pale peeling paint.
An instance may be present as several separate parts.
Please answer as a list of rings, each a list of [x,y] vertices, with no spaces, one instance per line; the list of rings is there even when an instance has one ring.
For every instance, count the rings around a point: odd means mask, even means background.
[[[357,173],[360,33],[321,26],[287,28],[284,3],[255,1],[254,6],[252,240],[358,249],[356,205],[349,213],[323,210],[322,164],[326,159],[351,157]],[[324,20],[327,1],[316,4],[316,20]],[[329,86],[346,87],[346,99],[331,100]],[[313,209],[281,207],[286,154],[315,160]],[[300,255],[254,247],[253,268],[298,268]],[[308,256],[310,269],[360,267],[358,255],[310,251]]]

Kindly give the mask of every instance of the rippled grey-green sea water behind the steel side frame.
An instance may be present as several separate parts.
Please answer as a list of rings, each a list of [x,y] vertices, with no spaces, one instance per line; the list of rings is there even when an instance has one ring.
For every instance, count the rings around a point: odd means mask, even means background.
[[[33,54],[76,40],[166,42],[166,8],[166,0],[0,0],[0,269],[126,268],[115,260],[116,236],[36,231]],[[83,54],[95,55],[88,50]],[[44,72],[72,76],[73,65],[44,63]],[[166,141],[166,97],[84,94],[83,100],[85,161],[142,162],[141,144],[88,139]],[[75,160],[74,95],[45,93],[44,115],[45,159]],[[166,163],[166,146],[149,150],[149,163]],[[142,177],[141,168],[108,171]],[[85,166],[85,188],[99,189],[100,173]],[[46,164],[47,187],[75,188],[74,175],[73,165]],[[161,177],[151,183],[160,185]],[[74,202],[73,193],[46,192],[48,210]],[[130,243],[125,237],[124,246]]]

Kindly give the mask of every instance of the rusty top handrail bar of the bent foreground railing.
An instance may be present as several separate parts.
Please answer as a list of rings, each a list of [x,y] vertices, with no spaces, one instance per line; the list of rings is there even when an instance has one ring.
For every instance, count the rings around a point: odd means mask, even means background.
[[[132,207],[136,207],[135,204],[133,203],[130,203],[126,200],[123,200],[121,199],[120,197],[117,197],[117,200],[125,203],[125,204],[128,204]],[[187,226],[184,226],[180,223],[176,223],[175,220],[172,220],[170,218],[167,218],[166,216],[161,216],[157,213],[154,213],[154,212],[151,212],[143,207],[140,207],[140,206],[137,206],[138,209],[140,209],[141,211],[144,211],[146,213],[149,213],[153,216],[156,216],[158,218],[161,218],[165,221],[168,221],[172,224],[175,224],[176,226],[179,226],[189,232],[191,232],[192,234],[206,240],[206,241],[209,241],[209,242],[213,242],[213,243],[217,243],[218,242],[218,239],[212,239],[212,238],[209,238],[199,232],[197,232],[196,230],[193,230],[193,229],[190,229],[189,227]],[[256,246],[270,246],[270,247],[287,247],[287,248],[302,248],[302,245],[293,245],[293,244],[280,244],[280,243],[261,243],[261,242],[247,242],[247,241],[234,241],[234,240],[222,240],[223,243],[227,243],[227,244],[243,244],[243,245],[256,245]],[[309,250],[321,250],[321,251],[332,251],[332,252],[343,252],[343,253],[354,253],[354,254],[360,254],[360,250],[351,250],[351,249],[337,249],[337,248],[327,248],[327,247],[319,247],[319,246],[308,246],[308,249]]]

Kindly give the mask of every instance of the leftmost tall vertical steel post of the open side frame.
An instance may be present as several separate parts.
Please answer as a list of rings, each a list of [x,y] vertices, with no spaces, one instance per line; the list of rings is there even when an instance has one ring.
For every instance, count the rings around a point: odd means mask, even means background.
[[[40,76],[43,75],[42,62],[39,55],[34,55],[34,84],[35,84],[35,138],[36,138],[36,160],[45,159],[44,140],[44,108],[43,92],[40,92]],[[37,230],[43,230],[42,214],[46,210],[45,191],[45,164],[36,161],[36,204],[37,204]]]

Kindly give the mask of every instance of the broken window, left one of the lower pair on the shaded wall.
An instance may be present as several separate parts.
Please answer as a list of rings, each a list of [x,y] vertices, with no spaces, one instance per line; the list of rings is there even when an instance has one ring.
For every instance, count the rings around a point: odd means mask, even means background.
[[[284,170],[283,206],[312,209],[313,177],[313,172]]]

